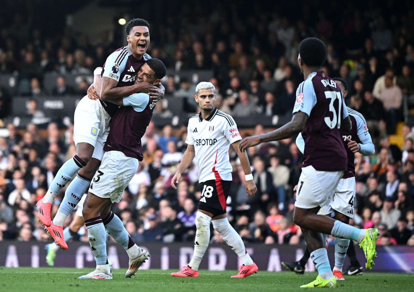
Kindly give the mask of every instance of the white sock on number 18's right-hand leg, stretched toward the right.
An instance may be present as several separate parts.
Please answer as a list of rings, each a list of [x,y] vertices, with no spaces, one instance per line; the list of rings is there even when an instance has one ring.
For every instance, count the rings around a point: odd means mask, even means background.
[[[234,230],[230,225],[229,219],[222,218],[217,220],[212,220],[214,230],[218,231],[223,237],[224,241],[227,243],[231,249],[238,255],[241,262],[245,266],[253,265],[253,260],[250,258],[250,255],[246,252],[246,247],[244,247],[243,240],[240,235]]]

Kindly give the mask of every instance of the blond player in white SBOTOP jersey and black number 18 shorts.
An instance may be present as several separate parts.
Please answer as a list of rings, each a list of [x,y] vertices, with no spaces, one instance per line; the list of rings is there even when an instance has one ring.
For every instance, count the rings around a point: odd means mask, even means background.
[[[240,235],[230,225],[226,213],[226,199],[229,196],[232,181],[232,167],[229,161],[230,144],[237,152],[246,179],[246,193],[253,198],[257,191],[247,154],[240,151],[241,136],[236,122],[230,115],[215,107],[216,89],[210,82],[200,82],[196,89],[195,101],[199,104],[199,115],[190,117],[188,121],[187,150],[183,155],[171,186],[191,164],[194,158],[198,166],[198,177],[201,184],[201,199],[198,206],[195,225],[197,227],[194,254],[188,266],[184,266],[173,277],[198,277],[198,268],[210,241],[210,223],[221,234],[224,241],[239,256],[242,266],[237,275],[231,278],[244,278],[256,273],[258,266],[247,253]]]

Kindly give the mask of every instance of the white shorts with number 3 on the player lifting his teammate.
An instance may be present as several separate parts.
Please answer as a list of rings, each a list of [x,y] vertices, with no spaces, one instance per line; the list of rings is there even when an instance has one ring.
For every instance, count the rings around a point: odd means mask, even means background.
[[[89,192],[100,198],[109,198],[112,203],[118,203],[124,189],[137,172],[138,163],[138,159],[125,156],[120,151],[105,152]]]

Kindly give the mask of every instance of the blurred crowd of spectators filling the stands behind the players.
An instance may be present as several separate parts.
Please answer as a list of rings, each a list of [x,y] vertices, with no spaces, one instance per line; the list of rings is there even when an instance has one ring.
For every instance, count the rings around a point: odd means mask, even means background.
[[[409,43],[414,39],[412,3],[405,1],[407,9],[402,10],[392,1],[369,1],[360,3],[361,7],[354,7],[353,2],[344,6],[332,2],[330,14],[326,5],[322,9],[306,3],[294,9],[301,12],[298,15],[285,15],[277,6],[264,12],[260,4],[254,4],[247,12],[234,9],[236,2],[218,5],[210,14],[196,4],[181,6],[179,14],[173,13],[177,9],[173,7],[162,21],[151,22],[149,18],[149,54],[177,71],[211,69],[217,107],[235,117],[285,115],[291,114],[296,87],[302,81],[296,65],[298,43],[308,36],[323,39],[328,49],[324,71],[347,81],[347,105],[365,117],[376,149],[371,157],[356,154],[357,197],[351,224],[378,228],[379,244],[414,245],[414,132],[402,123],[404,111],[414,107],[414,50]],[[311,17],[310,11],[317,13]],[[193,17],[172,16],[181,14]],[[86,81],[71,88],[63,77],[58,78],[53,92],[45,93],[43,74],[91,73],[123,43],[103,39],[91,45],[70,26],[63,33],[48,36],[30,19],[24,12],[17,13],[10,23],[2,23],[0,30],[0,74],[17,74],[20,96],[83,96],[89,86]],[[197,112],[191,80],[170,76],[164,84],[166,94],[186,98],[187,112]],[[12,98],[0,87],[0,118],[10,115]],[[28,114],[42,115],[35,100],[28,103]],[[156,107],[142,141],[144,161],[113,211],[137,243],[190,242],[200,199],[197,168],[190,167],[177,190],[171,188],[171,178],[186,148],[187,130],[185,125],[159,129],[157,116],[172,113]],[[257,125],[250,134],[267,131]],[[37,221],[34,206],[62,163],[75,155],[72,134],[73,127],[59,129],[50,123],[47,137],[42,138],[35,124],[25,130],[7,124],[7,135],[0,138],[0,240],[50,241]],[[403,139],[402,148],[391,143],[390,135],[394,134]],[[253,199],[246,195],[244,172],[236,153],[230,150],[233,184],[227,210],[246,242],[304,242],[300,228],[292,222],[293,189],[301,172],[301,153],[294,141],[249,148],[258,187]],[[64,189],[52,207],[52,218],[63,194]],[[82,229],[79,237],[87,241],[85,232]],[[214,242],[223,240],[218,233],[212,235]]]

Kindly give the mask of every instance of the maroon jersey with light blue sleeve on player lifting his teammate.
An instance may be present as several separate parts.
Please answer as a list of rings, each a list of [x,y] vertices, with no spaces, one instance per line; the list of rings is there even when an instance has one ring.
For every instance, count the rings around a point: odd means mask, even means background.
[[[123,103],[124,106],[112,117],[111,131],[103,150],[120,151],[142,161],[141,138],[151,121],[156,101],[152,101],[147,93],[134,93],[124,97]]]

